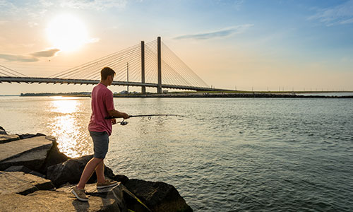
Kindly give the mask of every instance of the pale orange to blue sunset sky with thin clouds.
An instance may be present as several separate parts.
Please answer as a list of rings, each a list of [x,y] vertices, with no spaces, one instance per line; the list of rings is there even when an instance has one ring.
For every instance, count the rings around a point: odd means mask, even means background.
[[[26,76],[160,36],[215,88],[353,90],[353,0],[0,0],[0,11],[0,65]],[[0,83],[0,95],[90,90]]]

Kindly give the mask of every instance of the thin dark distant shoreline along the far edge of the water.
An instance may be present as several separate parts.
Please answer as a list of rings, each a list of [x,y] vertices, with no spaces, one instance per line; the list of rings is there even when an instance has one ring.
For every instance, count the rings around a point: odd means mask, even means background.
[[[337,95],[323,95],[330,93],[353,93],[352,91],[321,91],[321,92],[185,92],[185,93],[131,93],[131,94],[117,94],[114,93],[114,98],[353,98],[353,95],[337,96]],[[303,95],[305,94],[305,95]],[[309,95],[312,94],[312,95]],[[321,95],[315,95],[321,94]],[[6,95],[7,96],[7,95]],[[21,97],[30,96],[68,96],[68,97],[90,97],[89,92],[75,92],[75,93],[21,93]]]

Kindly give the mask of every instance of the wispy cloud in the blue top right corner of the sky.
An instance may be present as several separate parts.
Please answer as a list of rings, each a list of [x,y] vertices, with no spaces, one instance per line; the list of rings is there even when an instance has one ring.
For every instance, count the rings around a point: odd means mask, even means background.
[[[318,9],[309,20],[319,20],[327,26],[353,23],[353,0],[332,8]]]

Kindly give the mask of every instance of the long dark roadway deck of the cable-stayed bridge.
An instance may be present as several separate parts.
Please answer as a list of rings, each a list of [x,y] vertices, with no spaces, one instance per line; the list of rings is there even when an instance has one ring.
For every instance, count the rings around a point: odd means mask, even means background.
[[[44,77],[14,77],[14,76],[0,76],[0,83],[53,83],[53,84],[80,84],[80,85],[96,85],[99,80],[87,80],[87,79],[73,79],[73,78],[44,78]],[[157,88],[157,83],[138,83],[138,82],[125,82],[125,81],[113,81],[112,86],[145,86]],[[164,85],[162,88],[181,89],[181,90],[196,90],[196,91],[227,91],[226,89],[217,88],[203,88],[194,86],[176,86],[176,85]]]

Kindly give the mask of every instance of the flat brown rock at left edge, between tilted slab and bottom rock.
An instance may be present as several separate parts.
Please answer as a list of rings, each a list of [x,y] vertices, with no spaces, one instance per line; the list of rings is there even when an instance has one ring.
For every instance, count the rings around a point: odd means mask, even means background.
[[[27,195],[37,190],[54,189],[50,180],[25,172],[0,171],[0,182],[0,194]]]

